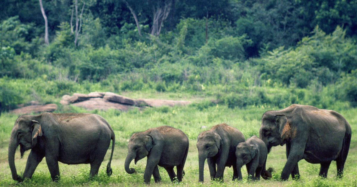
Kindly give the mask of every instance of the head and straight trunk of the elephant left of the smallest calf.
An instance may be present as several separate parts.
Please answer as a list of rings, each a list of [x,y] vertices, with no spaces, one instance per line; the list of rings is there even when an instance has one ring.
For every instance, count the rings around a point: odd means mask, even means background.
[[[221,136],[212,131],[203,131],[197,137],[199,181],[203,182],[203,168],[208,157],[217,155],[222,145]]]

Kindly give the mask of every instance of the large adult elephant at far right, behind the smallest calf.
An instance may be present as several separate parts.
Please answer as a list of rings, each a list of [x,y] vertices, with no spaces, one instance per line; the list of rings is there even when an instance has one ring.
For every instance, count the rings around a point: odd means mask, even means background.
[[[266,111],[262,116],[260,138],[268,152],[272,146],[286,144],[287,161],[281,180],[298,178],[298,161],[320,163],[321,177],[327,177],[332,160],[336,161],[337,177],[343,167],[351,141],[351,127],[336,111],[310,105],[292,104],[282,110]]]

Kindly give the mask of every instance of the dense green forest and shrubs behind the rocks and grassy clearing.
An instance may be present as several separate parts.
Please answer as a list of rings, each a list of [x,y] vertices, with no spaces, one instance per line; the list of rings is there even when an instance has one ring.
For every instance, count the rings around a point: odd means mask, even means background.
[[[357,0],[1,0],[0,103],[92,91],[357,107]],[[214,102],[212,102],[214,100]]]

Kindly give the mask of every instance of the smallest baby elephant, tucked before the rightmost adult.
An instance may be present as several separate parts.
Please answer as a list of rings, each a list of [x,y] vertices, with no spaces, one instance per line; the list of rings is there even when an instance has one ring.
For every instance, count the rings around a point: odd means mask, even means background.
[[[271,178],[271,173],[265,170],[268,149],[265,143],[257,136],[240,142],[236,148],[238,179],[242,180],[241,167],[246,165],[248,178],[259,180],[260,175],[264,179]],[[255,175],[254,175],[255,174]]]

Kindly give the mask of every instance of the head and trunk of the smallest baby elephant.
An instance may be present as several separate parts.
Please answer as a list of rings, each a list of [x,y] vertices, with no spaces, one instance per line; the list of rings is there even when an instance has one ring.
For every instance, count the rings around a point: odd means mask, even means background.
[[[240,142],[236,149],[238,179],[242,180],[241,167],[249,163],[258,153],[258,147],[247,142]]]

